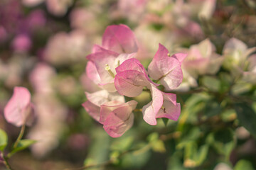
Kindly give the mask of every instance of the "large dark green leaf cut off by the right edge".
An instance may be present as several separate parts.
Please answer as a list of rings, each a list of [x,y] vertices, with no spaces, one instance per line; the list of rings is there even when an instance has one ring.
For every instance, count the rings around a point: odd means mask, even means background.
[[[256,113],[247,103],[235,104],[235,111],[238,115],[240,124],[245,127],[252,135],[256,136]]]

